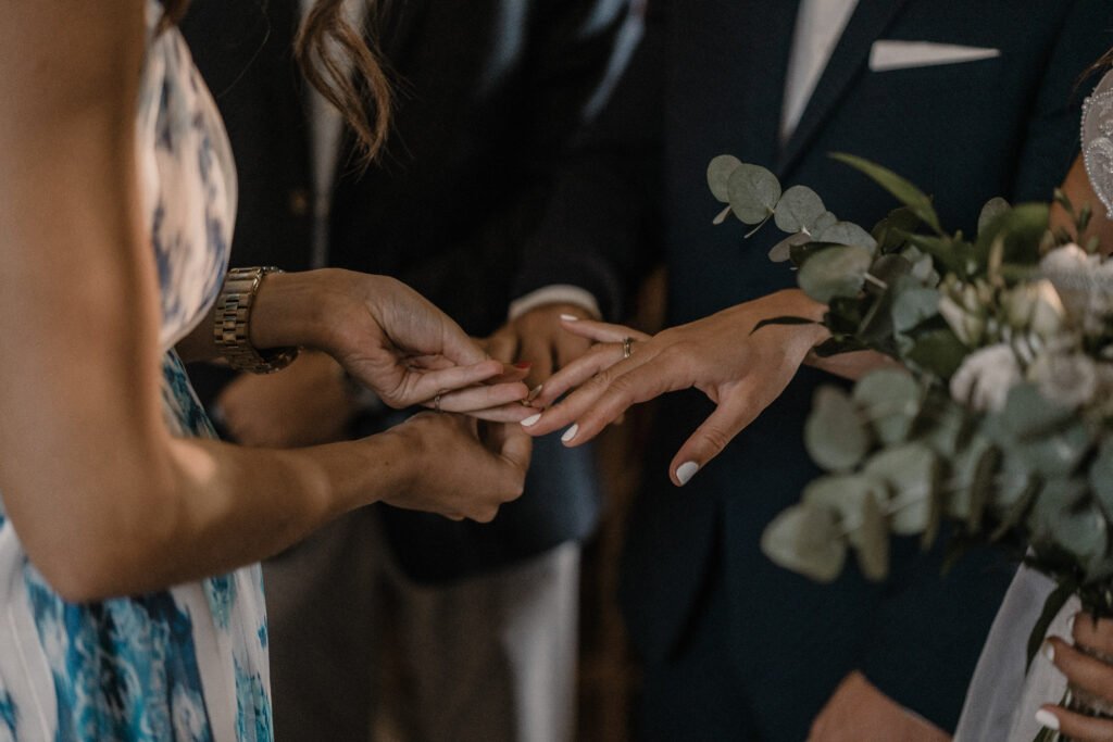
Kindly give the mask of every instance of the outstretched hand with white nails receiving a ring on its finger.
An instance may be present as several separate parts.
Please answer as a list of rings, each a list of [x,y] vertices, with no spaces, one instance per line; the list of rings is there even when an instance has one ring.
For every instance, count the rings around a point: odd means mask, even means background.
[[[798,290],[778,291],[652,337],[618,325],[568,321],[569,332],[599,344],[550,378],[533,404],[543,407],[575,390],[523,425],[531,435],[544,435],[574,423],[563,439],[575,446],[631,405],[695,387],[718,407],[669,465],[673,483],[687,484],[780,396],[811,348],[827,337],[819,325],[771,325],[754,332],[764,319],[786,316],[818,320],[823,307]]]

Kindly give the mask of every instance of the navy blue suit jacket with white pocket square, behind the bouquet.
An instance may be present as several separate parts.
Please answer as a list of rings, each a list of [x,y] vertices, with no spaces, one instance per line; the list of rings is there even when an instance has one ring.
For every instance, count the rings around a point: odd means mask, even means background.
[[[620,316],[630,278],[663,259],[669,321],[679,324],[792,286],[786,265],[767,258],[775,228],[746,240],[733,220],[712,226],[720,205],[706,168],[720,154],[774,169],[786,187],[810,186],[839,218],[867,227],[896,205],[829,159],[831,151],[884,164],[934,194],[952,229],[969,233],[994,196],[1050,199],[1077,147],[1080,78],[1113,44],[1106,0],[861,0],[798,129],[781,144],[797,4],[649,1],[641,48],[593,136],[567,164],[519,291],[556,275]],[[879,39],[1001,56],[875,72],[867,62]],[[628,530],[630,633],[650,669],[668,662],[690,642],[706,592],[725,584],[730,646],[722,650],[762,740],[805,739],[855,669],[953,729],[1011,576],[1006,566],[976,553],[942,576],[938,551],[900,543],[887,583],[870,584],[851,567],[835,585],[817,585],[759,551],[766,525],[818,474],[802,426],[823,380],[801,370],[682,491],[668,482],[667,465],[710,406],[695,393],[662,400]]]

